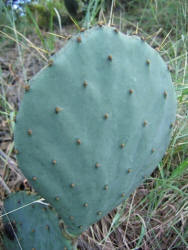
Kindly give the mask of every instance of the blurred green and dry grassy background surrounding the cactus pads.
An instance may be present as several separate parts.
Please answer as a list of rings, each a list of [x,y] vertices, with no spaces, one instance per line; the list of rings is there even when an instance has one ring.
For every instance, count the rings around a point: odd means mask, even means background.
[[[171,144],[152,176],[83,233],[79,247],[188,249],[188,2],[77,0],[75,6],[67,5],[69,12],[66,2],[0,0],[0,208],[10,191],[30,189],[17,168],[13,136],[24,86],[82,26],[113,23],[125,34],[145,37],[169,65],[177,120]],[[2,237],[0,222],[0,249]]]

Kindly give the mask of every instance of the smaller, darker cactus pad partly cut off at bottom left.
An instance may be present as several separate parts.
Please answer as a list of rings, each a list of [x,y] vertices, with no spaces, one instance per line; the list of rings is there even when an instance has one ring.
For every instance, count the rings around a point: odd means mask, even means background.
[[[4,201],[6,213],[14,210],[8,214],[8,217],[3,216],[5,249],[75,249],[72,241],[62,234],[58,215],[54,209],[41,203],[33,203],[39,199],[40,197],[36,194],[21,191],[11,194]]]

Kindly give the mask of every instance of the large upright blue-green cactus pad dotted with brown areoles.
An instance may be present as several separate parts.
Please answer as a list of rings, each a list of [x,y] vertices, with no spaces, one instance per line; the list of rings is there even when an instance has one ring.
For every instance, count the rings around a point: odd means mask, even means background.
[[[158,52],[115,28],[80,33],[52,60],[26,86],[18,163],[67,231],[79,235],[155,169],[176,98]]]

